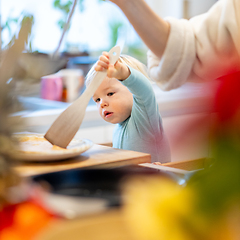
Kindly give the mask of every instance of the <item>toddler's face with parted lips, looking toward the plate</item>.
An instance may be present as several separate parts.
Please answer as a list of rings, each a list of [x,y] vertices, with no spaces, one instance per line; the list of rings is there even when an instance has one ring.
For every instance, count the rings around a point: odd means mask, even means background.
[[[93,100],[100,116],[107,122],[121,123],[131,115],[132,93],[115,78],[106,77],[93,95]]]

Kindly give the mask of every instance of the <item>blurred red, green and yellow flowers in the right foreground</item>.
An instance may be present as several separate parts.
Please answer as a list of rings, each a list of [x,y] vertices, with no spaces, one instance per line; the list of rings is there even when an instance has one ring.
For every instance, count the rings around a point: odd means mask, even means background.
[[[219,83],[210,130],[211,164],[182,186],[151,178],[132,180],[126,187],[126,219],[138,239],[239,240],[240,73]]]

